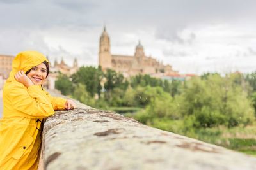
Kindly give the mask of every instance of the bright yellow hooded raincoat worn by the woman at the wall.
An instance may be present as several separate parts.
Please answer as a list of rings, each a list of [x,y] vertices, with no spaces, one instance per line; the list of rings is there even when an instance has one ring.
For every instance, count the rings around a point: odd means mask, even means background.
[[[28,88],[15,80],[47,61],[38,52],[20,52],[12,63],[12,72],[3,89],[3,118],[0,120],[0,169],[37,169],[41,145],[40,125],[54,110],[65,109],[66,99],[52,97],[41,85]],[[39,121],[40,120],[40,121]]]

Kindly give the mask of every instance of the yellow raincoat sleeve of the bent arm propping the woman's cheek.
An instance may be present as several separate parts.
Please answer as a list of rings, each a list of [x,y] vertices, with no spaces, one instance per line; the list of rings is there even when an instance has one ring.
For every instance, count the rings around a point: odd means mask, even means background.
[[[31,85],[27,89],[21,83],[15,83],[9,94],[13,108],[28,117],[44,118],[54,114],[51,101],[40,85]]]

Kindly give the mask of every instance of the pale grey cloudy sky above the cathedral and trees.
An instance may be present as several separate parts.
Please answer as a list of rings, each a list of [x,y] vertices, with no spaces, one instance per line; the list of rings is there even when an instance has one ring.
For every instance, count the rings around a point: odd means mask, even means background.
[[[106,25],[111,53],[146,55],[180,73],[256,71],[256,1],[0,0],[0,53],[38,50],[97,66]]]

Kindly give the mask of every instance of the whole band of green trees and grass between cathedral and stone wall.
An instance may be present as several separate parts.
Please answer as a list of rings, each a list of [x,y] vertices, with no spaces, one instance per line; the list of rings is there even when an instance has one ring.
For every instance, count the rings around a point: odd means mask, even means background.
[[[256,155],[256,73],[204,74],[187,81],[103,73],[60,74],[56,89],[94,108],[143,124]]]

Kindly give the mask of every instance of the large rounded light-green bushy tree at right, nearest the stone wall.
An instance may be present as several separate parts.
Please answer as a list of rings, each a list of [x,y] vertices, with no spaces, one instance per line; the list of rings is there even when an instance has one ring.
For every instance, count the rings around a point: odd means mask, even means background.
[[[216,125],[250,124],[254,120],[253,109],[241,85],[230,76],[208,76],[207,80],[193,78],[184,89],[184,116],[195,117],[199,127]]]

